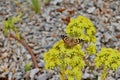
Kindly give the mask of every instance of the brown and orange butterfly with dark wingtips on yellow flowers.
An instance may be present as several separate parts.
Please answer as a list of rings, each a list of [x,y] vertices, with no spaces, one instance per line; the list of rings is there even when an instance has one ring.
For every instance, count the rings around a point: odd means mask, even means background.
[[[82,41],[81,39],[71,38],[66,35],[61,35],[61,38],[68,47],[74,47]]]

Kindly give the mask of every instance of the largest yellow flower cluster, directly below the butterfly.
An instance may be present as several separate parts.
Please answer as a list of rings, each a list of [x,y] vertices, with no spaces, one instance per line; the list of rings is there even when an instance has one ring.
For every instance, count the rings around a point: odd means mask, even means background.
[[[68,80],[77,80],[81,78],[80,71],[84,68],[85,63],[83,60],[84,52],[78,44],[73,48],[65,46],[64,41],[60,40],[45,53],[45,67],[46,69],[59,69],[67,76]]]

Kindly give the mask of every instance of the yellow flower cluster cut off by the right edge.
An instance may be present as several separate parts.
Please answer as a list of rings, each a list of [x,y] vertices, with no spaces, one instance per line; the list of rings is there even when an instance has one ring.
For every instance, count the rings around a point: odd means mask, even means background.
[[[95,65],[116,70],[120,66],[120,52],[111,48],[102,48],[95,58]]]

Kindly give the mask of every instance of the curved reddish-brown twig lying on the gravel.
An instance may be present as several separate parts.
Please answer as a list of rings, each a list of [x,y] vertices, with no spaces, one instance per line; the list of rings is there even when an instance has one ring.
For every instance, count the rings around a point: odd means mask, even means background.
[[[31,50],[31,48],[28,46],[28,44],[23,40],[23,39],[18,39],[15,35],[13,34],[9,34],[9,37],[14,38],[16,40],[18,40],[19,42],[21,42],[23,44],[23,46],[28,50],[28,52],[31,55],[32,61],[34,63],[34,67],[38,68],[38,64],[37,64],[37,60],[34,56],[34,52]]]

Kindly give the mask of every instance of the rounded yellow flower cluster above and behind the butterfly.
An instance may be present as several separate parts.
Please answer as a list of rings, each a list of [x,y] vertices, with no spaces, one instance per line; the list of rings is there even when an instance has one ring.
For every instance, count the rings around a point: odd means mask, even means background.
[[[66,33],[71,37],[77,37],[88,42],[96,42],[96,29],[93,23],[84,16],[71,19],[66,27]]]

